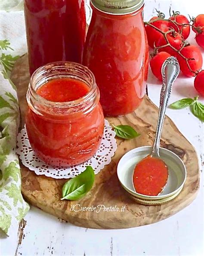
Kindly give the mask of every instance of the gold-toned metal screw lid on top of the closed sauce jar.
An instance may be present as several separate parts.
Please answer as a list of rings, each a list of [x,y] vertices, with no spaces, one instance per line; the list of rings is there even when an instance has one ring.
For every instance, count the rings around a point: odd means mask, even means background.
[[[90,0],[96,9],[112,14],[128,14],[139,10],[144,0]]]

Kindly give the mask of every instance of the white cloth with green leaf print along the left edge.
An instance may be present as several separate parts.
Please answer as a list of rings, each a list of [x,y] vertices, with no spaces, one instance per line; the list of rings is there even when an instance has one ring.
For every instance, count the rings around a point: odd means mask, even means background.
[[[15,155],[19,105],[15,85],[9,79],[16,55],[26,51],[23,13],[13,12],[20,9],[22,0],[0,0],[0,229],[7,235],[29,209],[21,194]]]

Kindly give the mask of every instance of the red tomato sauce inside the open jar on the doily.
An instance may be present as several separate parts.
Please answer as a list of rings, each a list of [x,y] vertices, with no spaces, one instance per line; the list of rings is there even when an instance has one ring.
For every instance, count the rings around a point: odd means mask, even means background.
[[[37,95],[50,102],[74,102],[83,99],[90,87],[70,77],[54,78],[37,89]],[[98,150],[104,117],[99,103],[88,113],[67,109],[46,111],[39,115],[29,108],[26,128],[31,147],[44,162],[54,166],[71,166],[90,159]]]

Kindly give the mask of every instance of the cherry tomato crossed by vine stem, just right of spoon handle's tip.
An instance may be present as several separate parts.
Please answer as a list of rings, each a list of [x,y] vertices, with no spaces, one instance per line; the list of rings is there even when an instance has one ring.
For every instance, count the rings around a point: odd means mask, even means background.
[[[197,46],[188,45],[188,46],[184,47],[180,52],[185,58],[193,58],[194,59],[194,60],[188,61],[189,66],[192,71],[197,72],[201,69],[202,64],[203,64],[203,58],[202,58],[201,51]],[[177,58],[178,58],[180,69],[181,69],[182,73],[186,77],[194,77],[195,73],[193,73],[189,69],[185,59],[182,58],[179,54],[178,54]]]

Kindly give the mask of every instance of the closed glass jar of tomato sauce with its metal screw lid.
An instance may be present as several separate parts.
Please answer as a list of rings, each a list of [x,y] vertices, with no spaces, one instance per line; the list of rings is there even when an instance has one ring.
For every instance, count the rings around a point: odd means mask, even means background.
[[[148,43],[144,0],[90,0],[83,64],[93,72],[105,115],[133,112],[145,95]]]

